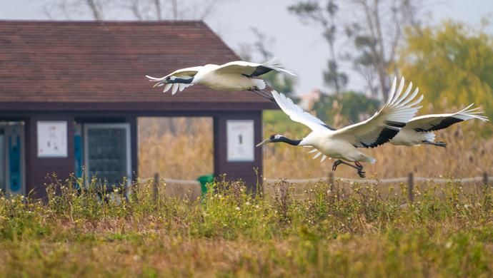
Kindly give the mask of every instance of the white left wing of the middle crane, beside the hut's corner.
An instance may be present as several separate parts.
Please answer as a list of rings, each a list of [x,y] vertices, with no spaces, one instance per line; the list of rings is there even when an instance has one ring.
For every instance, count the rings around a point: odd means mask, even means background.
[[[329,128],[322,120],[315,117],[314,115],[304,111],[301,107],[294,104],[291,98],[287,98],[283,93],[277,93],[277,91],[272,91],[272,96],[274,100],[279,105],[284,113],[289,115],[289,118],[297,123],[302,123],[307,125],[311,130],[334,130],[334,128]]]

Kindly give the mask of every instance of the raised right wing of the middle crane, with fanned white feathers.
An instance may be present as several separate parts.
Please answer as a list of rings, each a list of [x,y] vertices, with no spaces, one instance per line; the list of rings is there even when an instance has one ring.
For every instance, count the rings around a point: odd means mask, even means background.
[[[392,88],[389,91],[389,99],[379,112],[361,123],[336,130],[332,137],[347,140],[359,148],[374,148],[394,138],[421,108],[421,106],[416,105],[423,98],[423,96],[416,98],[418,88],[409,95],[412,90],[412,83],[409,83],[406,91],[403,91],[404,78],[401,79],[397,90],[396,83],[397,78],[394,78]]]

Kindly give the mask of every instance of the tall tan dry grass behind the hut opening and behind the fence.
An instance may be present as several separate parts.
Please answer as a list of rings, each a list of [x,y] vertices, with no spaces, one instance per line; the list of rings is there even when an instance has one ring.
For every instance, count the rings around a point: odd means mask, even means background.
[[[297,125],[297,123],[292,123]],[[377,158],[365,163],[367,177],[402,177],[409,172],[424,177],[469,177],[493,174],[493,138],[480,138],[477,130],[492,128],[490,123],[469,121],[437,132],[437,140],[447,148],[385,144],[360,149]],[[267,137],[275,128],[267,126]],[[306,131],[307,133],[309,130]],[[298,135],[289,134],[292,137]],[[264,147],[264,177],[324,177],[334,160],[312,160],[308,148],[286,144]],[[195,179],[213,171],[213,134],[211,118],[141,118],[139,120],[139,175]],[[252,170],[253,171],[253,170]],[[337,177],[358,177],[354,169],[340,165]]]

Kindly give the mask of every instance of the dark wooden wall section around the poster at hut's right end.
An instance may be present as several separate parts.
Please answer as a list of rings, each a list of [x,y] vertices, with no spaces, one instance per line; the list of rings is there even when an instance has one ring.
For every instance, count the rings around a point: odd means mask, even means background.
[[[218,113],[214,116],[214,174],[216,177],[226,173],[228,180],[243,180],[250,190],[257,189],[257,173],[262,175],[262,148],[255,148],[253,162],[228,162],[226,153],[226,121],[254,120],[254,143],[262,141],[262,111],[243,113]],[[262,181],[260,181],[262,183]]]

